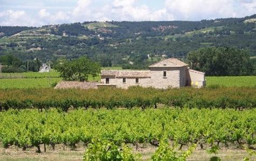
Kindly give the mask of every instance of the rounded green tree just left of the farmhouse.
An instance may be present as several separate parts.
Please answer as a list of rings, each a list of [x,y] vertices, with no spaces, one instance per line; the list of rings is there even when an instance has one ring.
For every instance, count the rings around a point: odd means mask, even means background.
[[[69,61],[58,60],[55,69],[64,80],[88,80],[89,76],[96,77],[100,73],[100,65],[92,62],[86,56]]]

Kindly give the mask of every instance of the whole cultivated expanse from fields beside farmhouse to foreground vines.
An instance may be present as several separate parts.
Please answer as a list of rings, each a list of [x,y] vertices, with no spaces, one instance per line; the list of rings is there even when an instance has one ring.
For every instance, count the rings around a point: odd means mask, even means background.
[[[27,155],[61,147],[80,149],[78,160],[225,160],[218,152],[227,149],[234,151],[228,156],[243,150],[231,160],[255,160],[254,77],[230,84],[225,77],[209,79],[202,89],[167,90],[54,90],[61,78],[0,79],[2,154],[9,159],[9,149]],[[141,151],[146,145],[153,147],[149,153]],[[198,151],[206,157],[195,157]]]

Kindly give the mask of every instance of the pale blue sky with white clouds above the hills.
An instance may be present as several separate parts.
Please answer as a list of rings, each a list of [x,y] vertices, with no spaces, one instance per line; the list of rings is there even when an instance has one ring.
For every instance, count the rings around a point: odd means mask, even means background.
[[[256,13],[256,0],[0,0],[0,26],[202,20]]]

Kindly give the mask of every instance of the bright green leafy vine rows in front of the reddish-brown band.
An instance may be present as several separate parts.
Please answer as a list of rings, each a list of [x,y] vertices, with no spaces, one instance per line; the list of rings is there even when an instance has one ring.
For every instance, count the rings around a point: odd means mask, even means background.
[[[41,152],[54,150],[60,144],[64,149],[83,145],[88,147],[85,158],[92,153],[95,157],[95,148],[102,148],[99,140],[107,142],[104,146],[113,144],[112,148],[133,144],[137,149],[141,143],[160,146],[153,160],[161,160],[170,152],[175,154],[163,138],[176,143],[179,151],[192,147],[189,153],[196,147],[207,151],[232,146],[255,148],[255,129],[255,109],[77,109],[68,113],[58,109],[11,109],[0,113],[0,142],[5,148],[36,147]],[[40,149],[40,145],[44,148]]]

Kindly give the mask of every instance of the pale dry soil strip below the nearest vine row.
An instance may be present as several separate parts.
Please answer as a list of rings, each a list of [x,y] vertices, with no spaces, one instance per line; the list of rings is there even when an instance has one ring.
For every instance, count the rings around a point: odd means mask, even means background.
[[[130,145],[134,153],[140,153],[142,160],[150,160],[150,157],[154,154],[156,147],[150,144],[140,144],[138,149],[134,145]],[[183,148],[183,150],[188,147]],[[75,149],[69,146],[65,147],[63,144],[56,145],[55,150],[51,146],[46,145],[46,152],[44,152],[44,146],[40,146],[41,153],[37,153],[37,148],[28,148],[22,150],[21,148],[11,146],[8,149],[0,148],[0,160],[82,160],[86,148],[84,145],[77,145]],[[208,154],[206,150],[201,150],[198,146],[192,155],[187,160],[210,160],[212,156],[218,156],[222,160],[243,160],[244,157],[250,157],[246,150],[237,148],[236,146],[229,148],[221,148],[217,155]],[[256,156],[251,156],[251,160],[256,160]]]

